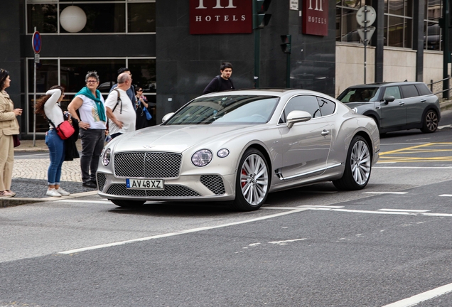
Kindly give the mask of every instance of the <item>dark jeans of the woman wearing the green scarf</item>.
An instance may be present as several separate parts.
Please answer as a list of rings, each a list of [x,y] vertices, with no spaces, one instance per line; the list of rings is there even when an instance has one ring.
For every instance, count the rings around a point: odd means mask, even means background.
[[[99,156],[104,148],[104,129],[80,129],[82,140],[82,156],[80,157],[80,168],[82,169],[82,181],[96,182],[96,171],[99,164]]]

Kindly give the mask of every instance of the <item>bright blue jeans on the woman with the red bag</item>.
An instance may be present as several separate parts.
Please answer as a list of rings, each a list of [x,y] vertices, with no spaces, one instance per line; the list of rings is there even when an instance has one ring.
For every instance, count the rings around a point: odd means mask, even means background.
[[[65,141],[58,136],[55,129],[50,129],[45,135],[45,145],[50,154],[50,166],[47,171],[47,184],[60,185],[61,166],[65,161]]]

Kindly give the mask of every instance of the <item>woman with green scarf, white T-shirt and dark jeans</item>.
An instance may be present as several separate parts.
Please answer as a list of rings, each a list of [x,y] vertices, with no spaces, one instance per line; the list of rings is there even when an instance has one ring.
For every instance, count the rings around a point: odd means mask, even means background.
[[[87,188],[97,188],[96,171],[99,156],[104,148],[107,114],[104,107],[104,98],[97,90],[99,86],[97,72],[88,72],[85,82],[86,86],[75,94],[74,99],[68,105],[68,111],[72,118],[78,120],[80,127],[82,185]]]

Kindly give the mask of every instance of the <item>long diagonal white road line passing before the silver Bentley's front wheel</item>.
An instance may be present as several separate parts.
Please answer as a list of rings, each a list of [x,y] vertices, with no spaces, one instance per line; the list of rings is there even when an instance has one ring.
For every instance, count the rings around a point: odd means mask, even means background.
[[[162,234],[162,235],[155,235],[155,236],[151,236],[151,237],[142,237],[139,239],[130,239],[127,241],[121,241],[121,242],[113,242],[113,243],[108,243],[108,244],[100,244],[100,245],[95,245],[92,247],[82,247],[80,249],[70,249],[68,251],[65,252],[59,252],[58,254],[74,254],[77,252],[85,252],[88,250],[93,250],[93,249],[102,249],[105,247],[113,247],[113,246],[117,246],[117,245],[122,245],[122,244],[127,244],[127,243],[132,243],[132,242],[142,242],[142,241],[149,241],[151,239],[159,239],[159,238],[163,238],[163,237],[173,237],[176,235],[184,235],[187,233],[191,233],[191,232],[200,232],[200,231],[204,231],[204,230],[212,230],[212,229],[216,229],[216,228],[222,228],[222,227],[228,227],[228,226],[232,226],[232,225],[240,225],[240,224],[246,224],[249,222],[257,222],[259,220],[267,220],[273,217],[279,217],[282,215],[289,215],[292,213],[298,213],[298,212],[302,212],[302,211],[306,211],[308,209],[306,208],[296,208],[295,210],[291,210],[289,212],[281,212],[281,213],[276,213],[274,215],[267,215],[264,217],[257,217],[251,220],[244,220],[242,222],[232,222],[232,223],[228,223],[228,224],[223,224],[223,225],[217,225],[217,226],[210,226],[210,227],[199,227],[199,228],[193,228],[193,229],[189,229],[189,230],[181,230],[179,232],[170,232],[170,233],[166,233],[166,234]]]

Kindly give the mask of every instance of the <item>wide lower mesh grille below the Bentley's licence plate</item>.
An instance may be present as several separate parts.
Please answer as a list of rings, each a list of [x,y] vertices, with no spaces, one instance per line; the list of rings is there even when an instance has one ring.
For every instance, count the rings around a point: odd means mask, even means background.
[[[193,197],[200,196],[190,188],[183,185],[166,185],[165,190],[130,190],[125,184],[113,184],[107,190],[107,194],[143,197]]]

